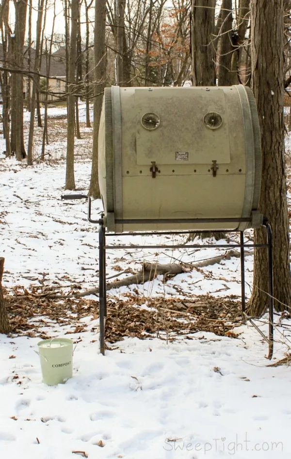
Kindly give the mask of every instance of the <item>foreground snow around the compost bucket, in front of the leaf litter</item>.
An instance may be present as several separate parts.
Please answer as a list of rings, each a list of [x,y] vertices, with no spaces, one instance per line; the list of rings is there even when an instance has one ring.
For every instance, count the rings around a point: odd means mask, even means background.
[[[289,459],[290,368],[266,367],[265,344],[244,330],[239,340],[127,339],[105,357],[87,331],[74,377],[57,387],[41,382],[37,339],[3,336],[1,458],[73,459],[80,451],[108,459]]]

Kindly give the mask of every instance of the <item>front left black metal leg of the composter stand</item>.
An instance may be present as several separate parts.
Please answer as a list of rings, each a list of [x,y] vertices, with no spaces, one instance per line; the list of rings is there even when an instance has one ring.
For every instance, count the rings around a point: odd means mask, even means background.
[[[105,271],[105,228],[103,222],[99,226],[99,326],[100,326],[100,353],[105,354],[105,326],[106,311],[106,271]]]

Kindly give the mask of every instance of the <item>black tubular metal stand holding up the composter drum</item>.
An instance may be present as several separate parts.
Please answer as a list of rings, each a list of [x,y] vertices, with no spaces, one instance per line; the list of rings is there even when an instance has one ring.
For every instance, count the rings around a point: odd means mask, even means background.
[[[91,220],[91,219],[90,219]],[[202,219],[201,219],[202,220]],[[211,222],[221,222],[224,221],[233,221],[230,219],[211,219]],[[247,219],[236,219],[236,221],[246,221]],[[92,220],[91,220],[92,221]],[[107,315],[106,309],[106,263],[105,263],[105,249],[106,249],[106,237],[105,237],[105,228],[103,218],[99,221],[92,221],[99,223],[99,310],[100,310],[100,352],[104,355],[105,353],[105,320]],[[138,221],[134,221],[137,223]],[[148,221],[143,221],[148,222]],[[159,223],[160,221],[156,221]],[[167,221],[169,223],[177,221]],[[186,222],[186,221],[183,221]],[[190,222],[190,221],[188,221]],[[195,220],[196,223],[200,223],[199,219]],[[203,219],[203,222],[210,222],[210,219]],[[133,223],[133,221],[118,221],[118,223]],[[264,218],[263,226],[267,230],[267,244],[245,244],[243,238],[243,231],[240,233],[240,244],[191,244],[185,245],[143,245],[144,249],[158,249],[158,248],[240,248],[241,249],[241,281],[242,281],[242,323],[245,323],[245,320],[249,320],[250,323],[259,331],[264,340],[268,342],[269,354],[268,358],[271,359],[273,356],[274,349],[274,296],[273,296],[273,263],[272,263],[272,230],[266,218]],[[209,231],[209,230],[208,230]],[[222,232],[221,230],[217,230]],[[146,235],[168,235],[168,234],[190,234],[190,233],[201,233],[203,231],[156,231],[156,232],[134,232],[134,233],[110,233],[107,236],[146,236]],[[215,232],[215,231],[212,231]],[[227,230],[226,233],[238,232],[236,230]],[[115,249],[136,249],[140,248],[140,245],[114,245],[109,246]],[[245,277],[244,277],[244,249],[245,247],[249,248],[267,248],[268,249],[268,282],[269,282],[269,337],[267,338],[259,327],[254,323],[253,319],[246,314],[245,308]]]

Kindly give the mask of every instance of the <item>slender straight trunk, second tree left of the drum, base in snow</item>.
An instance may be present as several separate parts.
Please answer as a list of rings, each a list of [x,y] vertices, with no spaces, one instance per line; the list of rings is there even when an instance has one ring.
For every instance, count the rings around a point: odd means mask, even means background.
[[[74,144],[75,144],[75,70],[77,57],[79,1],[71,1],[71,38],[68,66],[68,96],[67,96],[67,155],[65,170],[65,189],[75,189],[74,173]]]

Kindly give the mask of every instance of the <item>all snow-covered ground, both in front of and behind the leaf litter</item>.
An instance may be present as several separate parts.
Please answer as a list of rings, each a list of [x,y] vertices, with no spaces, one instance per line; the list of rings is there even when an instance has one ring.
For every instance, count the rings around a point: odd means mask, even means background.
[[[62,110],[51,109],[51,114],[63,115]],[[86,193],[92,139],[83,126],[82,133],[76,142],[80,156],[75,173],[78,192]],[[65,138],[55,140],[49,145],[50,164],[28,168],[14,159],[0,161],[0,255],[5,257],[3,286],[8,292],[16,285],[56,285],[63,292],[71,284],[97,286],[97,227],[87,222],[85,202],[61,201],[65,161],[53,158],[65,156]],[[36,156],[38,148],[36,139]],[[97,201],[94,216],[99,211]],[[134,238],[141,245],[183,240]],[[133,239],[108,242],[130,244]],[[107,274],[137,271],[145,260],[193,263],[221,253],[218,248],[112,247],[107,250]],[[249,295],[252,256],[246,257],[246,282]],[[108,295],[189,298],[240,291],[240,261],[231,258],[203,272],[178,274],[166,284],[158,278]],[[1,459],[291,457],[290,370],[267,366],[267,345],[249,324],[236,329],[238,339],[206,332],[168,344],[157,338],[127,338],[104,357],[98,350],[98,321],[90,316],[83,323],[83,331],[70,335],[78,341],[74,376],[56,387],[42,383],[39,357],[33,352],[38,338],[0,335]],[[258,325],[267,332],[266,324]],[[50,334],[64,336],[68,329],[54,324]],[[277,359],[289,340],[289,324],[283,321],[276,328]]]

